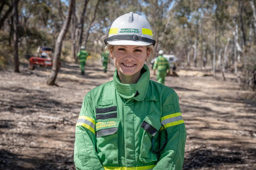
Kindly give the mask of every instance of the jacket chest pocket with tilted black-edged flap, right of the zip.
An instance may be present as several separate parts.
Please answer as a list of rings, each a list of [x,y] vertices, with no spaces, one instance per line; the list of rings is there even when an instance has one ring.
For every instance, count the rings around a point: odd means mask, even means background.
[[[141,162],[149,163],[158,160],[159,155],[153,154],[152,152],[152,140],[154,137],[154,147],[159,148],[159,141],[156,139],[158,136],[157,132],[159,131],[160,127],[160,115],[154,113],[146,116],[146,118],[141,123],[141,128],[143,129],[139,154],[139,160]]]

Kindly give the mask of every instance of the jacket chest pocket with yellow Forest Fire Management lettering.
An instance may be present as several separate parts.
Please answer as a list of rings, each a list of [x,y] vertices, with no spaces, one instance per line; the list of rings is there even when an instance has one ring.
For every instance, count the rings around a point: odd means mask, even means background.
[[[96,123],[97,154],[103,165],[118,164],[118,127],[121,120],[100,120]]]

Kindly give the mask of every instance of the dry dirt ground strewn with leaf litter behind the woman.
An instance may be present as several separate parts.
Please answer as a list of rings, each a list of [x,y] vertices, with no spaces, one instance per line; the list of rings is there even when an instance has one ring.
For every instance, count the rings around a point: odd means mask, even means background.
[[[57,86],[47,86],[49,69],[0,71],[0,169],[75,169],[75,123],[84,95],[112,80],[113,67],[99,64],[79,74],[63,63]],[[256,167],[256,103],[235,76],[201,76],[179,70],[166,85],[179,95],[187,128],[183,169],[246,170]],[[152,80],[156,80],[153,74]]]

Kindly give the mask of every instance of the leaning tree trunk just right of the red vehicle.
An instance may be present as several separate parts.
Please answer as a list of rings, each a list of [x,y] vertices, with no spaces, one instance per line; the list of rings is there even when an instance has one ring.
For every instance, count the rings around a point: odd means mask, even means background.
[[[65,23],[57,37],[57,41],[55,42],[55,48],[54,48],[54,55],[53,55],[53,64],[51,67],[51,74],[47,80],[48,85],[55,85],[55,80],[57,78],[57,74],[59,71],[59,62],[60,62],[60,54],[61,54],[61,47],[62,47],[62,41],[68,31],[71,15],[73,11],[73,5],[75,4],[75,0],[69,1],[69,9],[68,9],[68,15],[66,17]]]

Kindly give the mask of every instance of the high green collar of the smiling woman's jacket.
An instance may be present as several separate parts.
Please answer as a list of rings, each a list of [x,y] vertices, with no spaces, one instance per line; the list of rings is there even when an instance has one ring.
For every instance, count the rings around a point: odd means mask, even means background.
[[[134,98],[137,101],[141,101],[145,98],[148,91],[149,78],[148,66],[144,64],[141,69],[141,77],[136,84],[122,84],[117,75],[117,69],[115,69],[113,80],[115,89],[121,97],[125,99]]]

